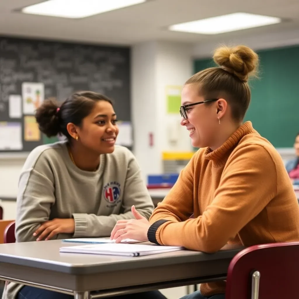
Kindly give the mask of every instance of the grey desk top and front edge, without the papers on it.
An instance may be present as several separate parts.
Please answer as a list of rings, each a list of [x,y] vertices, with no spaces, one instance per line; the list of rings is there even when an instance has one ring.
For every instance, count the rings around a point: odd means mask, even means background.
[[[62,292],[99,290],[104,296],[141,285],[159,289],[224,279],[231,259],[242,250],[225,246],[215,254],[174,251],[144,257],[59,252],[74,245],[60,240],[0,244],[0,278]]]

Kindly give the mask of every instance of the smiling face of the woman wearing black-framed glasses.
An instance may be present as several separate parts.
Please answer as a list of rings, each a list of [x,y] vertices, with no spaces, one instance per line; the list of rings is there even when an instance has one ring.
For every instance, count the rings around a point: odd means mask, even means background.
[[[181,94],[181,105],[208,100],[199,95],[196,84],[184,86]],[[217,102],[203,103],[185,108],[187,120],[182,118],[181,125],[189,130],[193,147],[212,147],[215,143],[219,122],[217,119]]]

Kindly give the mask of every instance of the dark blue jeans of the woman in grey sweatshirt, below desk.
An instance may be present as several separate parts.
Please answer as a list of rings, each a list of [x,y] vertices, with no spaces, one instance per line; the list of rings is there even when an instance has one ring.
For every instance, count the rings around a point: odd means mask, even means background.
[[[110,297],[112,299],[167,299],[159,291],[150,291],[137,294]],[[74,299],[74,296],[48,291],[45,289],[24,286],[19,291],[16,299]]]

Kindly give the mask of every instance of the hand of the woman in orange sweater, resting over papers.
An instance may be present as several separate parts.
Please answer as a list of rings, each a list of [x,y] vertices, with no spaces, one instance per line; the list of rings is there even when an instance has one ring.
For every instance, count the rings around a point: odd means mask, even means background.
[[[150,227],[148,220],[137,212],[135,206],[131,208],[135,219],[118,220],[111,232],[110,239],[120,243],[123,239],[134,239],[138,241],[147,241],[147,231]]]

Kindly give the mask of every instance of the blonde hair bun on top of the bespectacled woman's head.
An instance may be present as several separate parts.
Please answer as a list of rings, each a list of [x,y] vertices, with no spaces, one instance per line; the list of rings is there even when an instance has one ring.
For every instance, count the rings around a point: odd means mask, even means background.
[[[250,76],[257,74],[259,57],[246,46],[221,46],[215,50],[213,59],[221,68],[234,74],[242,82],[247,82]]]

